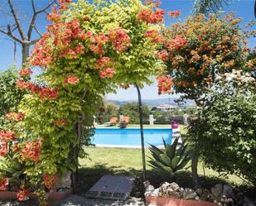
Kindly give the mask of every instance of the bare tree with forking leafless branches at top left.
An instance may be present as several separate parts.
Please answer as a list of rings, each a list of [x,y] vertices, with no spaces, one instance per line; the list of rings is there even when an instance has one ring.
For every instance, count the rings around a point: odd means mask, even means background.
[[[0,32],[22,46],[22,64],[27,61],[29,47],[36,44],[41,38],[41,32],[36,26],[37,18],[40,14],[47,13],[55,2],[56,0],[52,0],[47,3],[46,7],[36,9],[34,0],[31,0],[31,20],[26,25],[22,25],[21,17],[18,15],[18,9],[13,4],[12,0],[6,0],[7,7],[1,9],[2,13],[7,14],[8,17],[12,17],[13,23],[7,23],[6,26],[0,27]],[[32,38],[32,33],[34,31],[39,35],[38,38]]]

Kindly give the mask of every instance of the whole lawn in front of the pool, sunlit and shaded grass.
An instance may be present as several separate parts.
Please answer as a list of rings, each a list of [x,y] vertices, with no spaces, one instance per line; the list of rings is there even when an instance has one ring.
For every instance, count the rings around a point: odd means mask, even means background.
[[[83,195],[83,191],[85,192],[93,186],[102,175],[128,175],[136,178],[132,195],[135,197],[143,196],[141,150],[87,147],[85,151],[89,158],[80,159],[79,185],[75,191],[77,194]],[[148,150],[146,150],[146,155],[150,156]],[[224,178],[207,168],[205,168],[204,175],[201,162],[198,171],[202,185],[205,188],[210,189],[217,183],[229,183],[234,188],[243,188],[243,191],[249,190],[249,195],[255,193],[254,190],[234,175]],[[147,180],[150,180],[155,187],[159,187],[159,184],[163,181],[173,181],[170,175],[152,170],[149,165],[147,165],[146,176]],[[191,170],[178,172],[175,181],[182,187],[193,188]]]

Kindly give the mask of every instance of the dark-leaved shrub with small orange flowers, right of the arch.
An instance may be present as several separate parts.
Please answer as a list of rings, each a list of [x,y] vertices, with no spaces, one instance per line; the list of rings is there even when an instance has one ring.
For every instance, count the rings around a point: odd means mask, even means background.
[[[215,84],[216,75],[254,68],[255,53],[254,60],[247,61],[247,38],[255,31],[243,31],[241,20],[234,13],[200,14],[163,31],[168,41],[159,55],[167,61],[167,74],[176,93],[200,104],[205,90]]]

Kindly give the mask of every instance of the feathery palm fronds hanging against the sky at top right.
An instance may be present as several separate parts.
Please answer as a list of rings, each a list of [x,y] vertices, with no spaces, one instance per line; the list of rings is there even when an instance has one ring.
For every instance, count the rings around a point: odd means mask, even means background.
[[[193,5],[193,14],[208,14],[223,9],[223,5],[229,5],[234,0],[195,0]],[[254,17],[256,18],[256,0],[254,2]]]

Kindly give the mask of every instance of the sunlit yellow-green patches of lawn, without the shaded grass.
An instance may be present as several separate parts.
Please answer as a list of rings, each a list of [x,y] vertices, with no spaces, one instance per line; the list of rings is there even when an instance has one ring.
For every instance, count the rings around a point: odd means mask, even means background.
[[[142,152],[138,149],[118,149],[118,148],[86,148],[85,151],[89,154],[89,159],[80,160],[80,165],[83,168],[97,168],[104,165],[104,168],[111,170],[113,173],[126,173],[129,175],[138,175],[142,171]],[[146,150],[146,156],[150,156],[150,152]],[[148,157],[147,157],[148,160]],[[205,176],[212,178],[220,178],[227,180],[231,184],[242,184],[243,181],[235,175],[229,175],[221,178],[214,170],[205,169]],[[198,172],[201,177],[204,177],[203,164],[200,162]],[[148,173],[152,168],[147,165]],[[187,170],[191,171],[191,170]],[[159,173],[159,172],[157,172]],[[161,174],[159,174],[161,175]]]

